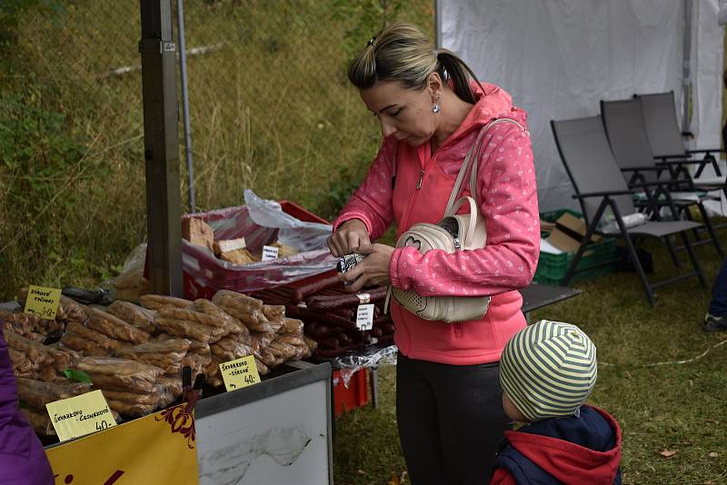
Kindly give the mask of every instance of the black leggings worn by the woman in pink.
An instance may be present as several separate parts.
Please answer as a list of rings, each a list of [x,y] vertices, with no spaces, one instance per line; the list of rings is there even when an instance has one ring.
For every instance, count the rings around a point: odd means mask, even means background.
[[[503,431],[500,363],[396,363],[396,419],[412,485],[488,483]]]

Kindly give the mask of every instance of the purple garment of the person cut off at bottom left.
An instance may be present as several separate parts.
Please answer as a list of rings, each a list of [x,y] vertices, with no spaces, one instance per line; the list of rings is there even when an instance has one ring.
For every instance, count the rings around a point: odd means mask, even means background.
[[[17,407],[13,365],[0,321],[0,483],[53,485],[45,450]]]

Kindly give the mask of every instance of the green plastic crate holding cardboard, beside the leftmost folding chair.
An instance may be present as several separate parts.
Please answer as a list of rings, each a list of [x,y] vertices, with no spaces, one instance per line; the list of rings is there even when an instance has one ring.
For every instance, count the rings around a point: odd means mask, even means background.
[[[541,213],[540,218],[548,223],[554,223],[563,213],[571,213],[575,217],[583,217],[583,214],[571,211],[570,209],[561,209],[558,211],[550,211]],[[547,252],[540,253],[540,261],[535,271],[533,282],[542,284],[559,285],[571,266],[575,252],[563,252],[561,254],[550,254]],[[589,244],[581,262],[578,263],[578,271],[573,275],[571,282],[590,280],[597,276],[610,274],[615,271],[616,263],[607,264],[597,268],[593,266],[601,263],[612,261],[616,258],[616,240],[612,237],[603,238],[598,243]]]

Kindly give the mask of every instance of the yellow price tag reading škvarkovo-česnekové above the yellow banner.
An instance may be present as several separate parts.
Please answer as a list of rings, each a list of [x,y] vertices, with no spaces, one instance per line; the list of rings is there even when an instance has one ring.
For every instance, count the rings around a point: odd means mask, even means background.
[[[72,440],[116,425],[101,391],[45,404],[58,440]]]

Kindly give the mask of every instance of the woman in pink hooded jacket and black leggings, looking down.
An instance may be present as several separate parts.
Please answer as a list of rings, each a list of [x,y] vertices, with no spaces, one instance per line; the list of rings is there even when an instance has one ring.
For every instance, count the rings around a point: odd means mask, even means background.
[[[335,221],[329,247],[335,256],[367,255],[341,275],[354,292],[391,282],[423,296],[493,296],[475,322],[428,322],[391,305],[400,351],[396,416],[413,484],[483,483],[509,425],[498,361],[505,343],[525,326],[523,299],[513,290],[532,280],[539,254],[528,134],[513,123],[495,124],[484,134],[476,163],[485,248],[423,255],[371,241],[394,220],[399,234],[413,223],[437,223],[483,127],[502,117],[524,125],[526,114],[499,87],[476,82],[455,54],[434,50],[413,25],[385,27],[354,58],[348,75],[378,117],[383,143]]]

